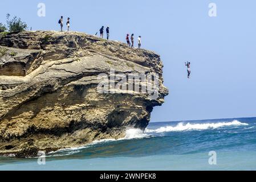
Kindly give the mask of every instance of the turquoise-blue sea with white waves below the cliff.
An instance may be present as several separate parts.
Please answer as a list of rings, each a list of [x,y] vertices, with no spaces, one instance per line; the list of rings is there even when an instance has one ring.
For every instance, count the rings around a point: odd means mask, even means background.
[[[120,140],[52,152],[38,159],[0,158],[1,170],[256,170],[256,118],[150,123]],[[209,152],[216,164],[209,164]]]

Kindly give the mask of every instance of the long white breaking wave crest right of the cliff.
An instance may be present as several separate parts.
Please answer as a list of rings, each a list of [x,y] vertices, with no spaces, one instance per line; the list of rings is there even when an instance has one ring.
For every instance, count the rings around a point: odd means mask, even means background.
[[[247,123],[241,123],[237,120],[232,122],[218,122],[218,123],[178,123],[176,126],[165,126],[159,129],[146,129],[145,133],[163,133],[169,131],[188,131],[188,130],[207,130],[207,129],[217,129],[218,127],[225,126],[241,126],[248,125]]]

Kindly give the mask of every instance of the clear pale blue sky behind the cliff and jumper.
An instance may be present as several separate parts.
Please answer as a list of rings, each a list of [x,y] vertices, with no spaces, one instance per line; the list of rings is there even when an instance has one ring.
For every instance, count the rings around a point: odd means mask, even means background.
[[[45,17],[37,15],[38,3],[46,5]],[[209,3],[216,3],[216,17],[208,15]],[[161,55],[169,88],[152,121],[255,117],[255,7],[255,0],[1,0],[0,22],[9,13],[32,30],[59,30],[63,15],[73,31],[95,34],[109,25],[112,40],[141,35],[142,47]]]

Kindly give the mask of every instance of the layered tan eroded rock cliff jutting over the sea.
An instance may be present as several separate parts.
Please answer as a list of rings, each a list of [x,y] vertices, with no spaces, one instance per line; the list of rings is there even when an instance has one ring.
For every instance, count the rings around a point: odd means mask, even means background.
[[[164,102],[160,56],[79,32],[0,36],[0,154],[36,155],[145,129]],[[157,98],[100,93],[99,74],[157,73]]]

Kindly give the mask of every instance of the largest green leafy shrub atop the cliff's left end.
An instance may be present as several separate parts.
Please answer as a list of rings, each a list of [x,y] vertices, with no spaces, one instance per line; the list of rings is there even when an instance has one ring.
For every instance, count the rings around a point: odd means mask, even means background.
[[[9,19],[9,18],[10,18],[10,14],[7,14],[6,23],[10,32],[21,32],[27,29],[27,24],[25,22],[22,22],[21,18],[17,18],[17,16],[14,16],[13,19]]]

